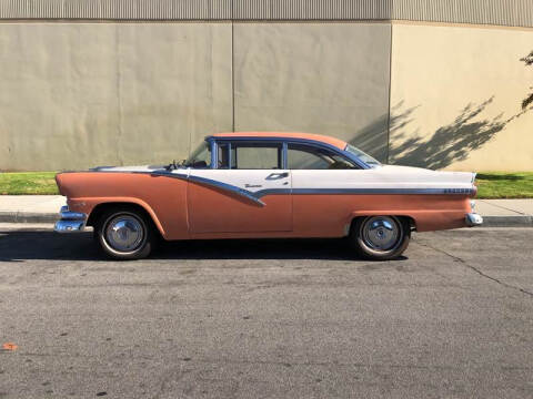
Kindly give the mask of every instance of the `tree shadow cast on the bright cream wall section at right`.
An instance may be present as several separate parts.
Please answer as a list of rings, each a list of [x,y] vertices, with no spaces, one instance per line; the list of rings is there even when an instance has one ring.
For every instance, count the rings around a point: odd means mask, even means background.
[[[398,113],[403,105],[399,103],[391,110],[390,129],[391,136],[402,143],[391,146],[390,163],[439,170],[466,160],[472,151],[482,147],[510,122],[527,112],[524,110],[509,119],[503,119],[503,114],[482,119],[480,115],[493,101],[494,96],[480,104],[470,103],[451,124],[439,127],[429,140],[419,134],[408,137],[402,132],[413,120],[412,113],[418,106]]]

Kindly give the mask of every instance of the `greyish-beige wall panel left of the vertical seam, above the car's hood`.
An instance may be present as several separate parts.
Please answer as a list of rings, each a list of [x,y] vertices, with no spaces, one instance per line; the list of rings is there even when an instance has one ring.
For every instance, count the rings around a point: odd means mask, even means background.
[[[232,127],[229,23],[2,23],[0,65],[0,170],[170,162]]]

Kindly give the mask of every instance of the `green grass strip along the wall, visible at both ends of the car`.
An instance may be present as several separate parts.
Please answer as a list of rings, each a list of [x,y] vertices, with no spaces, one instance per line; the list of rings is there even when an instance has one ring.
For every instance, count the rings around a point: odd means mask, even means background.
[[[0,194],[58,194],[56,172],[0,173]],[[479,173],[479,198],[533,198],[533,172]]]

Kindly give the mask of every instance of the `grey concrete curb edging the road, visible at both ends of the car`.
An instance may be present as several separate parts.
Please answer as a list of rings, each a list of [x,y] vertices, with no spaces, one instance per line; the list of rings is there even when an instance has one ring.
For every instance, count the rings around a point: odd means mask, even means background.
[[[57,213],[0,212],[0,223],[54,223]],[[533,227],[533,216],[483,216],[483,227]]]

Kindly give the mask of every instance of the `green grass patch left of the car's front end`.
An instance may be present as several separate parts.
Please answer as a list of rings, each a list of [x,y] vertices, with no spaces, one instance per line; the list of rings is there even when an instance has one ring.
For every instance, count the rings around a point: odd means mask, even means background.
[[[0,173],[0,194],[59,194],[56,172]]]

